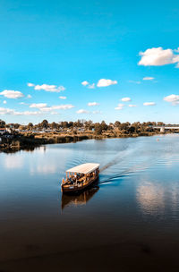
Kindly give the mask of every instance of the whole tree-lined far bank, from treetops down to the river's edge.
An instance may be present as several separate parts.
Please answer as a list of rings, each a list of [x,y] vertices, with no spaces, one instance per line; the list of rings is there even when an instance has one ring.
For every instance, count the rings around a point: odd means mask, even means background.
[[[0,151],[16,152],[21,149],[33,150],[42,145],[69,143],[80,140],[102,140],[107,138],[128,138],[165,134],[153,129],[155,122],[148,123],[92,123],[78,120],[77,122],[48,123],[47,120],[33,125],[21,125],[0,120]],[[158,125],[164,123],[158,122]],[[170,133],[171,131],[167,131]],[[174,132],[174,131],[173,131]],[[179,132],[176,130],[176,132]]]

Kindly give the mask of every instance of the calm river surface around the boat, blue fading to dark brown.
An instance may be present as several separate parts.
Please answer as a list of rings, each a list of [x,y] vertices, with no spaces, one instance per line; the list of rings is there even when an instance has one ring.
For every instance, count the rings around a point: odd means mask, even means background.
[[[98,184],[62,196],[86,162]],[[0,153],[0,174],[0,271],[179,270],[178,135]]]

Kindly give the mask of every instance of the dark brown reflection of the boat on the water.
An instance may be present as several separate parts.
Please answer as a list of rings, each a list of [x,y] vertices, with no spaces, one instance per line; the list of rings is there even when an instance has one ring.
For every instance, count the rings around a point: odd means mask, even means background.
[[[79,195],[66,195],[62,194],[61,200],[61,208],[62,210],[68,206],[81,206],[86,205],[87,202],[94,196],[94,194],[98,191],[98,186],[90,188],[89,190],[81,192]]]

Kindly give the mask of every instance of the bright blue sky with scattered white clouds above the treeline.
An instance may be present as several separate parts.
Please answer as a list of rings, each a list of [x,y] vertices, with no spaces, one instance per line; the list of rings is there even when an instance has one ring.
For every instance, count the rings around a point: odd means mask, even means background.
[[[0,32],[7,123],[179,123],[177,1],[0,0]]]

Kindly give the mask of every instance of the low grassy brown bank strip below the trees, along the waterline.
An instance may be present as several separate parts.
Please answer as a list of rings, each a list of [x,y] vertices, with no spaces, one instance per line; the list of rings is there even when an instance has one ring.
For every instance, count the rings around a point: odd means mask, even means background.
[[[171,133],[171,132],[167,132]],[[69,143],[76,142],[80,140],[102,140],[109,138],[129,138],[129,137],[140,137],[140,136],[154,136],[158,134],[165,134],[164,132],[141,132],[141,133],[112,133],[104,132],[101,135],[96,135],[95,133],[80,133],[76,135],[62,134],[58,132],[49,132],[41,134],[33,133],[19,133],[13,137],[1,136],[0,142],[0,151],[4,152],[15,152],[21,149],[33,150],[39,146],[46,144],[55,144],[55,143]]]

